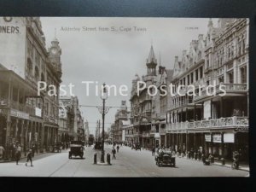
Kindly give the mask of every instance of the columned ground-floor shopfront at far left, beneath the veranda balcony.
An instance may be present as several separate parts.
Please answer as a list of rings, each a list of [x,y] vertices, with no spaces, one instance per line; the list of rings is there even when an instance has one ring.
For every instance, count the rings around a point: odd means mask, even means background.
[[[16,143],[21,144],[25,154],[32,145],[35,145],[38,152],[43,127],[43,119],[33,118],[28,113],[13,108],[0,108],[0,144],[6,148],[9,158],[12,156],[9,154],[11,146]]]

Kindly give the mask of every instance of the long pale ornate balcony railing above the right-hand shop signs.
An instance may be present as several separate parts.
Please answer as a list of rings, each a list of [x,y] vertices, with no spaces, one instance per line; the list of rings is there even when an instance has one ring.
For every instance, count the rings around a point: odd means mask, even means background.
[[[200,120],[195,122],[189,122],[188,129],[205,129],[205,128],[247,128],[247,117],[228,117],[220,119]]]

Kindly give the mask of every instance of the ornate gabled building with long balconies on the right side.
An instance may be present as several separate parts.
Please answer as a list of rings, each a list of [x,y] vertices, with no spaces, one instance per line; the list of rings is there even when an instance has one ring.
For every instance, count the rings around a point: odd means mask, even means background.
[[[180,90],[183,96],[174,89],[166,145],[184,153],[192,149],[224,158],[241,149],[242,158],[247,159],[247,74],[248,20],[219,19],[217,27],[209,20],[207,37],[199,35],[189,52],[183,51],[181,61],[175,58],[172,84],[187,88]],[[195,96],[187,94],[188,85],[195,86]],[[212,85],[209,91],[208,85]],[[220,85],[224,85],[224,96]]]

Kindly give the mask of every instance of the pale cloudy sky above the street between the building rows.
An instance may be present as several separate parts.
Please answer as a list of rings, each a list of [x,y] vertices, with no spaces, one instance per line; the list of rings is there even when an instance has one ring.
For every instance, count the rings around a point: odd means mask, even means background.
[[[147,73],[146,60],[151,45],[158,66],[173,68],[174,57],[181,59],[183,49],[189,49],[192,39],[207,34],[208,18],[96,18],[96,17],[41,17],[47,47],[53,38],[61,46],[62,85],[73,84],[73,94],[78,96],[79,105],[102,106],[96,96],[95,85],[89,93],[82,81],[121,84],[128,87],[128,96],[113,96],[110,93],[106,106],[118,107],[125,100],[130,107],[131,81],[135,74]],[[217,25],[217,19],[213,19]],[[135,28],[136,27],[136,28]],[[105,30],[100,30],[104,28]],[[137,31],[137,29],[142,29]],[[69,29],[69,30],[65,30]],[[95,31],[96,29],[96,31]],[[107,31],[108,29],[108,31]],[[114,31],[111,31],[114,29]],[[68,87],[65,90],[69,90]],[[87,96],[87,94],[89,96]],[[110,108],[105,116],[105,129],[114,122],[118,108]],[[81,107],[89,122],[91,134],[95,134],[96,121],[102,115],[98,109]]]

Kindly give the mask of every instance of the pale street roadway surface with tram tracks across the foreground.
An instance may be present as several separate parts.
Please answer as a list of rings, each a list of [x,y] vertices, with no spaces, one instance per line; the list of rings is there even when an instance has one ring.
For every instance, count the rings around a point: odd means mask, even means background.
[[[112,146],[105,146],[105,154]],[[176,158],[176,167],[155,165],[148,150],[136,151],[120,147],[111,166],[94,165],[94,154],[100,161],[101,151],[84,149],[84,159],[68,159],[68,150],[61,153],[38,154],[33,166],[25,166],[26,159],[0,164],[0,177],[248,177],[249,172],[225,166],[204,166],[201,161]],[[106,160],[106,155],[105,155]],[[29,165],[29,164],[28,164]]]

